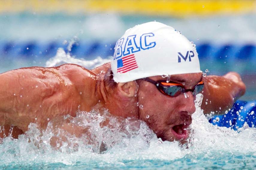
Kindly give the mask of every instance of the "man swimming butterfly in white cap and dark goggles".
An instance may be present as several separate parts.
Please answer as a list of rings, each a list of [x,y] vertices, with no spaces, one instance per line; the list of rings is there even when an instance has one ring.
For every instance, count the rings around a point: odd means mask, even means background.
[[[28,67],[0,74],[0,137],[12,137],[37,123],[76,112],[106,108],[120,118],[143,120],[162,140],[184,140],[195,112],[196,94],[204,113],[224,114],[245,93],[240,75],[203,76],[193,44],[175,29],[148,22],[128,29],[116,42],[114,59],[92,70],[76,64]],[[206,104],[207,102],[207,104]],[[77,136],[79,127],[61,126]]]

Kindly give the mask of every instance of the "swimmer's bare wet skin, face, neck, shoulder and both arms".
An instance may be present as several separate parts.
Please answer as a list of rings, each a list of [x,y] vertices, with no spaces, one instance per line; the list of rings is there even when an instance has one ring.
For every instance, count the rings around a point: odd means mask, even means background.
[[[187,92],[188,98],[183,94],[169,97],[153,84],[137,80],[139,89],[134,96],[135,81],[119,83],[115,88],[105,85],[105,71],[109,68],[109,63],[93,70],[65,64],[53,68],[22,68],[0,74],[0,125],[5,126],[6,134],[9,125],[15,126],[13,137],[16,138],[28,130],[31,122],[44,129],[49,120],[67,114],[75,117],[78,106],[85,111],[97,106],[107,108],[110,114],[118,117],[145,121],[163,140],[187,138],[188,132],[184,129],[190,125],[191,115],[195,112],[195,97],[191,92]],[[171,81],[185,83],[186,89],[192,89],[202,79],[205,83],[203,103],[206,99],[211,101],[202,108],[206,113],[215,110],[218,110],[216,113],[224,113],[234,103],[233,98],[239,98],[245,92],[245,85],[237,73],[225,76],[202,77],[202,73],[190,73],[172,75]],[[164,79],[161,76],[151,78]],[[219,96],[222,96],[222,103]],[[143,105],[143,109],[139,109],[137,102]],[[67,124],[61,127],[77,136],[84,132]],[[3,132],[0,137],[3,137]]]

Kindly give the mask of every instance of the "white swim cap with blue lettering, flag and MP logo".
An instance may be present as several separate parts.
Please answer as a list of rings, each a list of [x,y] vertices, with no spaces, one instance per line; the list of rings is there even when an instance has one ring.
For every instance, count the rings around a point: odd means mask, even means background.
[[[116,82],[200,71],[193,44],[174,28],[147,22],[126,30],[116,42],[111,69]]]

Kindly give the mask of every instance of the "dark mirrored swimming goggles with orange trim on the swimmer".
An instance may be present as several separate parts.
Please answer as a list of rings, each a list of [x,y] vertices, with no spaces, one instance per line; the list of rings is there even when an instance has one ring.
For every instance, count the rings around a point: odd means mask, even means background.
[[[142,78],[142,80],[154,84],[161,93],[163,93],[164,95],[169,95],[171,97],[177,97],[181,93],[185,92],[192,92],[192,95],[195,96],[200,93],[204,88],[204,83],[202,81],[196,84],[193,89],[185,89],[182,84],[172,81],[166,83],[166,80],[154,81],[150,78]]]

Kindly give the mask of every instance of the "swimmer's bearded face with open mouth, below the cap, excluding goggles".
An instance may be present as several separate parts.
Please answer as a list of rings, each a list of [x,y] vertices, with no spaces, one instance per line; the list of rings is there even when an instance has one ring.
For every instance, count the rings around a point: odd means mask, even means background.
[[[167,79],[162,76],[150,78],[154,81]],[[202,73],[171,75],[170,81],[183,84],[185,89],[193,89],[202,81]],[[161,93],[154,84],[140,80],[138,101],[139,105],[143,105],[143,109],[139,109],[139,118],[145,121],[162,140],[187,139],[189,132],[186,129],[192,122],[191,115],[196,108],[195,96],[192,92],[186,93],[187,97],[184,93],[170,97]]]

